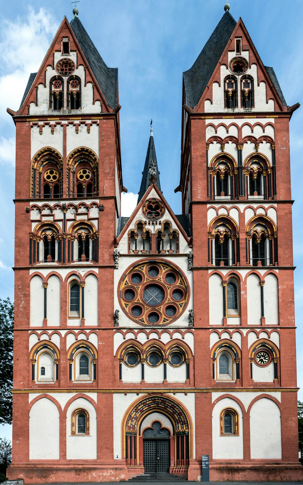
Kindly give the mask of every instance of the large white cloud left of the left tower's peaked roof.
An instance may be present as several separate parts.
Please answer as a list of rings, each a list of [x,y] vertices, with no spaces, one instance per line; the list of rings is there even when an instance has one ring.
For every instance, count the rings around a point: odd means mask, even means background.
[[[29,75],[39,69],[57,26],[53,16],[44,8],[36,13],[30,7],[26,17],[2,21],[0,92],[5,96],[0,97],[1,118],[7,120],[7,107],[19,109]]]

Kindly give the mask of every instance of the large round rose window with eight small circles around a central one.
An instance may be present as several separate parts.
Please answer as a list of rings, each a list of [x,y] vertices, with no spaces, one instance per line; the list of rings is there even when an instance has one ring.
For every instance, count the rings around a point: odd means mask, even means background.
[[[123,311],[141,325],[166,325],[184,311],[189,298],[185,276],[171,263],[143,261],[122,276],[118,297]]]

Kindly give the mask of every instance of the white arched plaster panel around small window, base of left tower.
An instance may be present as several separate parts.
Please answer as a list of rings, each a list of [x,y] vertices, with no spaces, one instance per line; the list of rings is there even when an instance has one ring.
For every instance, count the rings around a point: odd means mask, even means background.
[[[89,435],[71,435],[71,415],[77,408],[85,409],[90,415]],[[87,399],[80,397],[73,401],[66,412],[66,459],[96,460],[97,457],[97,419],[96,409]],[[102,440],[102,436],[99,436]]]

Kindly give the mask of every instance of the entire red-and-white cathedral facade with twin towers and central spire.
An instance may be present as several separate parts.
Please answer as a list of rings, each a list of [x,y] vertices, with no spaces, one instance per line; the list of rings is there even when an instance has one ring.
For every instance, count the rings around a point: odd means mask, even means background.
[[[299,480],[288,136],[299,105],[227,7],[183,73],[182,213],[161,192],[151,129],[138,205],[121,217],[118,70],[74,14],[8,109],[8,477],[201,481],[208,455],[210,480]]]

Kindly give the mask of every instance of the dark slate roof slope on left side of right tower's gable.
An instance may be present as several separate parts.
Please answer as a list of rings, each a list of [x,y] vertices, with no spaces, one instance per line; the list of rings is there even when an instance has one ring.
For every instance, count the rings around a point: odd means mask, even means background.
[[[183,72],[186,104],[191,108],[200,101],[236,25],[234,17],[225,12],[191,68]]]

